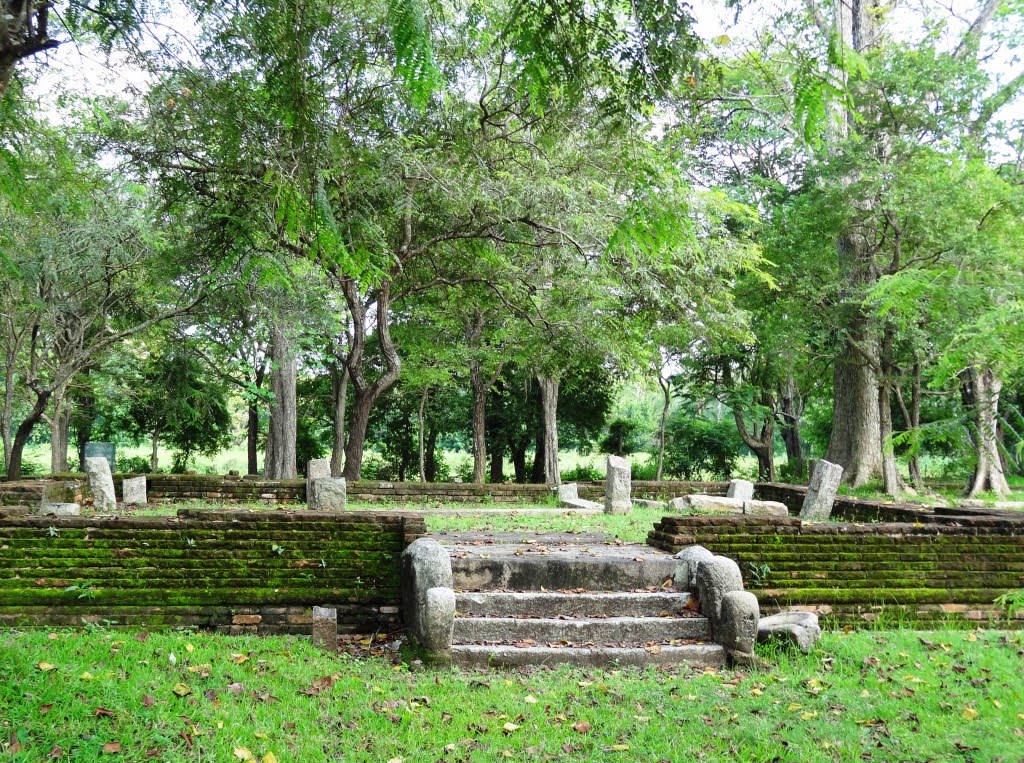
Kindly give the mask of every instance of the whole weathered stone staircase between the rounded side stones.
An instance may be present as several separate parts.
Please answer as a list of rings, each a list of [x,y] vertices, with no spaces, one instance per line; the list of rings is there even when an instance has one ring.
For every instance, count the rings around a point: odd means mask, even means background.
[[[458,534],[453,534],[458,535]],[[721,666],[679,564],[603,539],[439,539],[452,555],[452,662],[465,667]]]

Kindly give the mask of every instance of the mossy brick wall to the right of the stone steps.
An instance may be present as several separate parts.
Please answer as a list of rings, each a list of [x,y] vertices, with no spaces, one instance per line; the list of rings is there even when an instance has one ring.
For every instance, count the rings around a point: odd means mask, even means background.
[[[930,524],[667,516],[647,542],[673,552],[699,545],[735,559],[762,609],[811,609],[833,625],[977,625],[1002,619],[993,600],[1024,588],[1024,515]],[[1024,627],[1024,618],[1013,625]]]

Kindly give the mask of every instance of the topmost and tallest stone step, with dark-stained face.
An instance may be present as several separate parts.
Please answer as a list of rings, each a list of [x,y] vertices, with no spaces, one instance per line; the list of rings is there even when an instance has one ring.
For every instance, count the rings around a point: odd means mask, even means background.
[[[453,558],[457,591],[633,591],[662,588],[677,562],[670,556],[554,555]],[[671,583],[670,583],[671,585]]]

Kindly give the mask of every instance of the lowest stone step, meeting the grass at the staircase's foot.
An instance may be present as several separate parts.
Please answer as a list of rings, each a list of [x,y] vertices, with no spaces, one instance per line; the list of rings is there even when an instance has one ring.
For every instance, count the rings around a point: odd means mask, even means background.
[[[456,644],[452,662],[465,668],[518,668],[526,665],[575,665],[587,668],[691,665],[719,668],[725,665],[725,649],[718,644],[683,646],[552,647],[477,646]]]

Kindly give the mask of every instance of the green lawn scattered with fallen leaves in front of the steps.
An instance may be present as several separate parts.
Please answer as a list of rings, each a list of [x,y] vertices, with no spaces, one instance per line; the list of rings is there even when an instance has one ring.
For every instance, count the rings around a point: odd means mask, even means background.
[[[859,632],[741,673],[464,674],[295,638],[7,631],[0,760],[1017,761],[1021,639]]]

